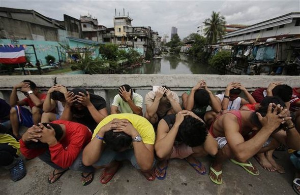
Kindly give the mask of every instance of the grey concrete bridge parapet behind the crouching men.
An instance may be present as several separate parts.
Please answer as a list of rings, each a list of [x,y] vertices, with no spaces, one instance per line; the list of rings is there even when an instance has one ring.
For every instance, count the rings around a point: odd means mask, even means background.
[[[107,106],[112,103],[116,89],[123,84],[130,85],[136,93],[144,95],[154,85],[166,85],[180,97],[191,89],[200,79],[204,79],[211,91],[224,91],[230,82],[241,82],[249,91],[267,87],[270,82],[283,82],[291,87],[300,87],[300,76],[262,76],[262,75],[213,75],[213,74],[77,74],[77,75],[26,75],[0,76],[0,98],[9,100],[12,87],[28,79],[46,91],[54,81],[68,89],[84,88],[106,99]],[[23,97],[19,93],[19,97]],[[145,106],[144,106],[145,107]],[[143,111],[145,111],[143,109]]]

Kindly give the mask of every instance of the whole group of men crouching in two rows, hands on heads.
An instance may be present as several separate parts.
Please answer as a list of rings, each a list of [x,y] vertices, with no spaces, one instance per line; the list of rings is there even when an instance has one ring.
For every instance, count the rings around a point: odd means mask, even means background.
[[[26,96],[22,100],[18,89]],[[241,92],[246,99],[239,97]],[[224,94],[214,95],[201,80],[182,94],[182,105],[166,86],[148,92],[143,114],[143,97],[122,85],[108,114],[105,100],[84,89],[54,85],[43,94],[25,80],[10,96],[12,133],[1,126],[15,143],[0,142],[1,166],[10,170],[14,181],[24,177],[20,149],[26,159],[38,157],[53,167],[49,183],[71,169],[80,171],[82,185],[88,185],[95,168],[104,168],[100,182],[105,184],[125,160],[149,181],[165,179],[169,159],[174,158],[186,160],[204,175],[206,168],[197,158],[208,154],[215,158],[209,178],[216,184],[222,184],[227,159],[258,175],[248,161],[255,156],[266,170],[284,173],[272,153],[280,144],[300,150],[299,98],[300,88],[278,82],[252,95],[241,83],[229,83]],[[28,127],[22,135],[21,125]]]

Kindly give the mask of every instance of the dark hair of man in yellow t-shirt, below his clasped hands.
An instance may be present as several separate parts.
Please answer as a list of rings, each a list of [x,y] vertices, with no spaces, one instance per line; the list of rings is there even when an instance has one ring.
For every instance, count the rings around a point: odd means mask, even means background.
[[[120,151],[124,147],[129,147],[132,139],[124,132],[113,132],[113,130],[110,130],[104,134],[104,141],[114,151]]]

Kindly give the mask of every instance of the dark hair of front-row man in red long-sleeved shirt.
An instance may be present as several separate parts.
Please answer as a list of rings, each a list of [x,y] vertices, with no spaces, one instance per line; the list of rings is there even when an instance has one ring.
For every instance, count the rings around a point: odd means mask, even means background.
[[[54,124],[54,123],[42,123],[44,127],[48,128],[47,125],[49,124],[55,131],[55,139],[59,141],[63,137],[63,129],[60,125]],[[38,125],[39,126],[39,125]],[[43,143],[41,141],[34,142],[34,141],[26,141],[25,145],[29,149],[34,149],[34,148],[47,148],[48,144]]]

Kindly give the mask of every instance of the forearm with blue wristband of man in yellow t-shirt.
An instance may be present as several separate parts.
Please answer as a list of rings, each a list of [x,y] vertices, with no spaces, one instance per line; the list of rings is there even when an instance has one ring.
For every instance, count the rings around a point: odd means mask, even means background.
[[[101,129],[99,130],[97,135],[99,137],[104,137],[104,133],[101,132]],[[85,166],[92,166],[93,164],[95,164],[101,157],[103,146],[103,140],[94,137],[94,139],[92,139],[92,141],[89,142],[83,149],[82,163]]]

